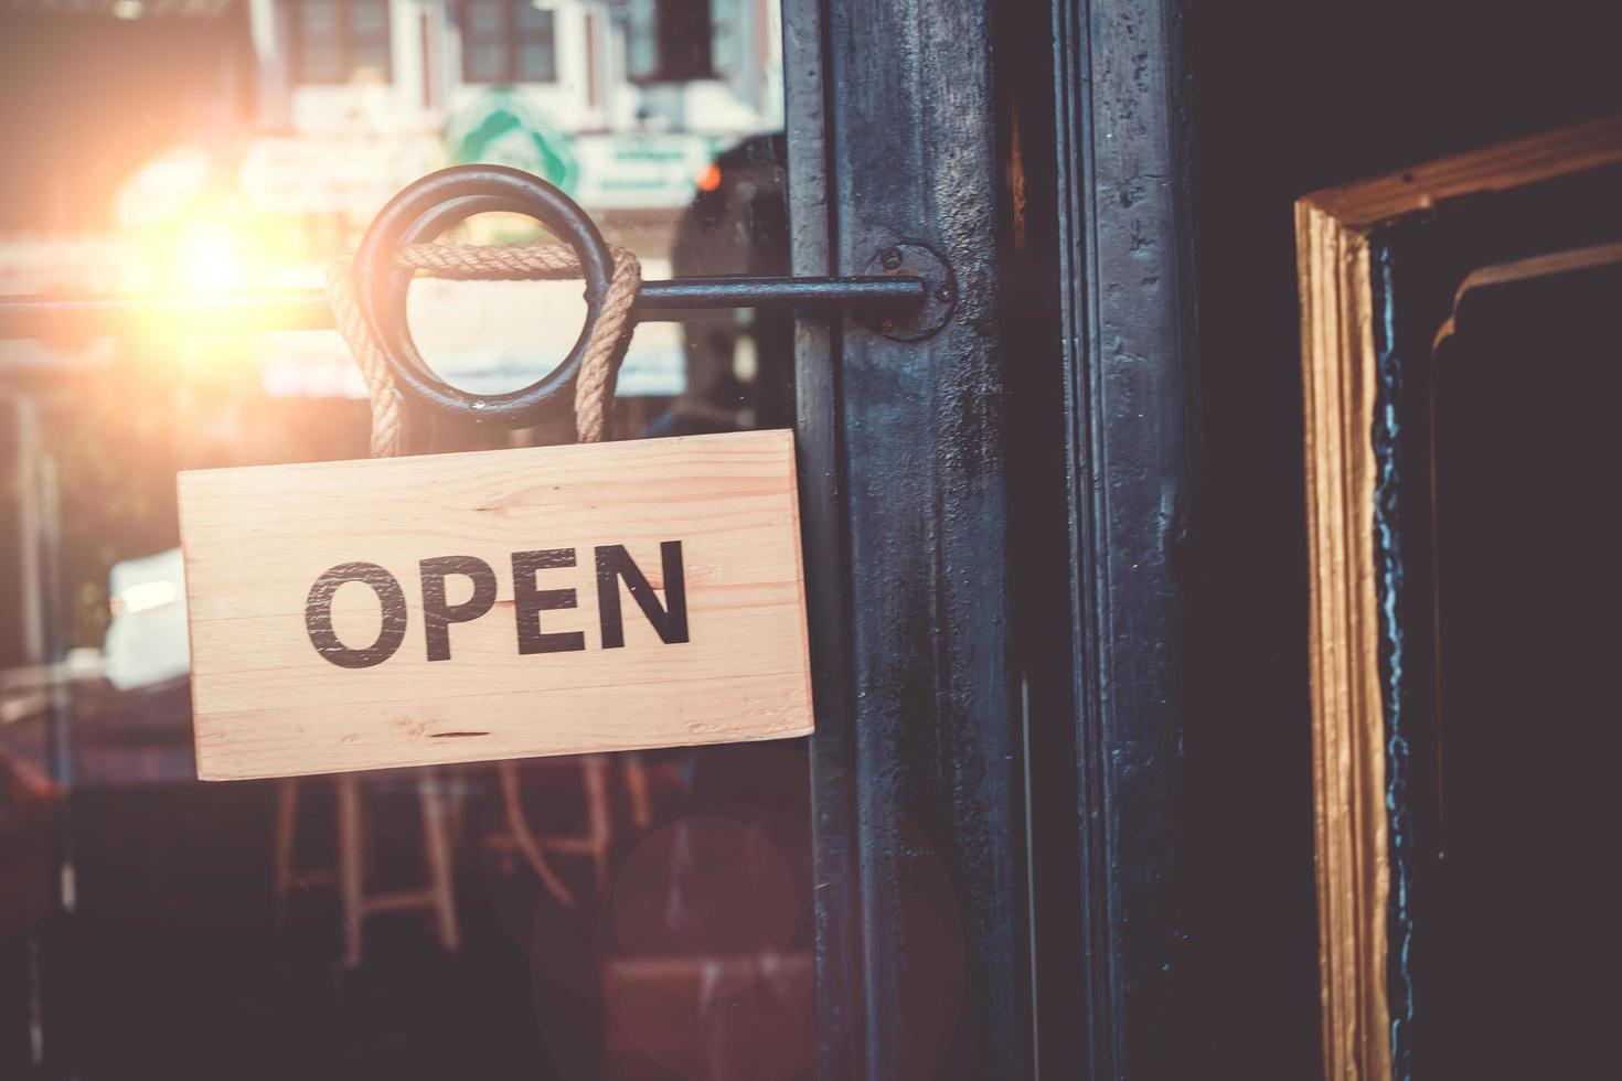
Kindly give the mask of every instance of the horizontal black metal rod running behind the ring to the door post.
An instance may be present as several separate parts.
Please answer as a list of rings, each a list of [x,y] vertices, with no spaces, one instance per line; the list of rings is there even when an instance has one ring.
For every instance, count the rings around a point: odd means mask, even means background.
[[[686,277],[642,282],[641,319],[678,319],[693,308],[895,308],[925,300],[918,277]],[[320,290],[222,297],[0,297],[0,339],[141,332],[311,331],[333,326]]]

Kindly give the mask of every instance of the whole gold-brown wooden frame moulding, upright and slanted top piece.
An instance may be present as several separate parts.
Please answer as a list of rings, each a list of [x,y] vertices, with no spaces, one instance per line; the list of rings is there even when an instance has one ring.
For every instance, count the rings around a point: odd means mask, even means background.
[[[1622,117],[1325,188],[1296,203],[1325,1078],[1392,1078],[1392,867],[1374,538],[1377,311],[1369,237],[1447,199],[1616,162],[1622,162]]]

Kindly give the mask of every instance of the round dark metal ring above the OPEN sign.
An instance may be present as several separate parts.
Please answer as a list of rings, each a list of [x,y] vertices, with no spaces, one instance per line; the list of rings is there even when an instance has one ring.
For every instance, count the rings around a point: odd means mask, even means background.
[[[406,324],[412,271],[394,266],[399,245],[433,240],[487,211],[539,219],[574,248],[586,277],[586,326],[569,355],[537,382],[506,394],[470,394],[433,373]],[[446,417],[506,428],[527,428],[574,408],[574,379],[611,277],[613,254],[586,211],[545,180],[504,165],[453,165],[407,185],[373,219],[355,256],[360,311],[401,392]]]

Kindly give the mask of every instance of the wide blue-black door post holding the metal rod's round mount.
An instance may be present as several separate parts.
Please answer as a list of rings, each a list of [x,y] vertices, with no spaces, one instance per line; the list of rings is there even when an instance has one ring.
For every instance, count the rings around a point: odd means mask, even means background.
[[[801,324],[819,1068],[1028,1076],[989,3],[785,3],[793,271],[952,264],[926,342]]]

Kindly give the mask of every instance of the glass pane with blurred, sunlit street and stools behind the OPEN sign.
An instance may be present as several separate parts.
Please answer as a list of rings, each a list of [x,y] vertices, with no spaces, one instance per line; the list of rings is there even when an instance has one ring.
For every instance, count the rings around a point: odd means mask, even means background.
[[[646,277],[783,274],[782,117],[770,0],[0,8],[0,1076],[809,1071],[803,742],[200,784],[174,498],[182,468],[365,455],[342,340],[255,298],[320,288],[410,180],[516,165]],[[144,300],[18,314],[76,295]],[[423,279],[409,313],[493,392],[584,301]],[[790,339],[639,327],[620,438],[790,425]]]

